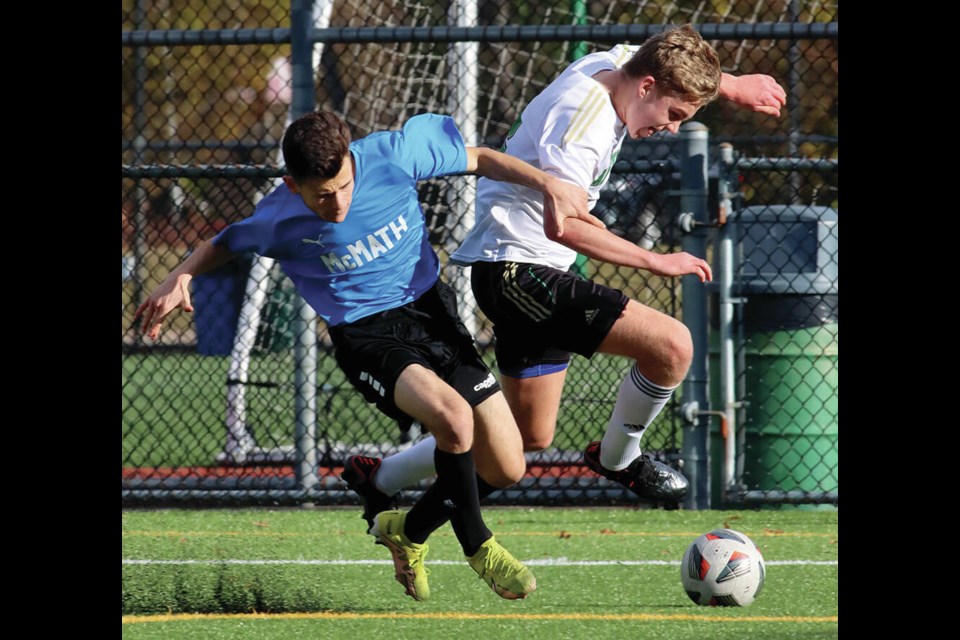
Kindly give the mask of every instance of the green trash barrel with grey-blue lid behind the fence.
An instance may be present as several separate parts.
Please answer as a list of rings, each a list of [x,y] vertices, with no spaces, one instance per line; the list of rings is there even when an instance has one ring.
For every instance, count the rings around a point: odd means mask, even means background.
[[[839,496],[839,227],[828,207],[736,216],[747,491]],[[781,496],[782,497],[782,496]]]

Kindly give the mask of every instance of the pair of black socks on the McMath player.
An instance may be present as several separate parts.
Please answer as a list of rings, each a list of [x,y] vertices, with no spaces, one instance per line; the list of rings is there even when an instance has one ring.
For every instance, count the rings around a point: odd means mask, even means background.
[[[437,467],[437,479],[407,514],[404,533],[411,542],[426,542],[430,534],[454,513],[459,521],[454,526],[454,533],[464,553],[469,551],[467,555],[472,555],[493,535],[480,515],[473,454],[470,451],[448,453],[436,449],[433,460]]]

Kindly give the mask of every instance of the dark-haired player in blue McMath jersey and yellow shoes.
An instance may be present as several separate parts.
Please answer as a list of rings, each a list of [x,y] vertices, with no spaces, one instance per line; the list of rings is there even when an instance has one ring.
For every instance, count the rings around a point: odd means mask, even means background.
[[[283,138],[288,175],[254,214],[203,243],[137,309],[143,331],[159,335],[178,307],[192,311],[189,285],[238,254],[276,258],[297,291],[330,327],[335,357],[350,382],[385,414],[414,419],[436,439],[436,482],[404,513],[369,514],[370,533],[393,555],[407,595],[429,598],[423,561],[430,533],[451,520],[470,566],[500,596],[524,598],[531,571],[496,541],[480,512],[484,495],[526,469],[520,432],[496,378],[457,314],[455,292],[438,279],[416,185],[477,173],[535,189],[549,215],[600,224],[586,193],[492,149],[467,147],[448,117],[411,118],[401,131],[351,143],[328,111],[295,121]],[[480,467],[474,443],[496,441],[512,455]]]

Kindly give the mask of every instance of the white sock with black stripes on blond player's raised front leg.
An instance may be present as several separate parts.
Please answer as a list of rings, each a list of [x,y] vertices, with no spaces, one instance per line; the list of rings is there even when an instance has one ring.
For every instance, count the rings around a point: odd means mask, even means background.
[[[650,382],[636,364],[630,368],[620,385],[617,404],[600,443],[600,464],[619,471],[640,457],[644,430],[670,401],[675,388]]]

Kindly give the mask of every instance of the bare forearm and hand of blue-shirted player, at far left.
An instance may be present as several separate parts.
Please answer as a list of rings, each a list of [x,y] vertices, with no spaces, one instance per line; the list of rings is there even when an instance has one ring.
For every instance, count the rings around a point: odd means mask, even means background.
[[[204,242],[186,260],[170,272],[150,296],[137,307],[133,319],[143,317],[141,329],[147,337],[156,340],[160,335],[160,326],[177,307],[192,312],[190,302],[190,281],[193,277],[215,269],[234,258],[229,249],[215,245],[209,240]]]

